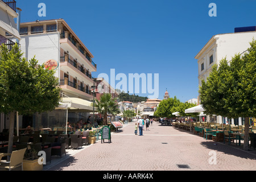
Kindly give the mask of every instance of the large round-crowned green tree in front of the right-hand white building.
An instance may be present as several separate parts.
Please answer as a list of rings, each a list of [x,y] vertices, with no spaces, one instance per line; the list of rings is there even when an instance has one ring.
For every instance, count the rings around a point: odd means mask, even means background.
[[[256,41],[247,52],[223,59],[214,65],[207,82],[199,88],[201,104],[207,114],[229,118],[256,117]],[[249,121],[245,122],[244,150],[248,150]]]

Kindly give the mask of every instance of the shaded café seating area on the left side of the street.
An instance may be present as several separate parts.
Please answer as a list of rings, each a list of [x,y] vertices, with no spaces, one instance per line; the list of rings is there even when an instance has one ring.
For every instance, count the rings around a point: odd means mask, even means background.
[[[79,150],[82,146],[90,144],[89,135],[99,140],[102,127],[103,126],[92,128],[88,126],[88,129],[85,130],[87,128],[86,125],[84,129],[75,130],[67,134],[63,129],[57,127],[52,130],[33,131],[31,134],[14,136],[13,152],[11,152],[11,154],[8,153],[8,138],[1,138],[0,170],[11,170],[19,166],[21,166],[22,169],[22,160],[26,158],[26,152],[31,150],[35,151],[35,154],[38,154],[39,151],[46,152],[47,165],[51,163],[52,156],[59,156],[61,158],[63,155],[67,155],[66,150]],[[9,136],[8,131],[6,131],[5,135]],[[20,153],[21,151],[23,152],[22,154]],[[17,156],[15,156],[15,154],[17,154]],[[19,157],[18,154],[20,154]],[[10,163],[7,162],[8,156],[10,156]]]

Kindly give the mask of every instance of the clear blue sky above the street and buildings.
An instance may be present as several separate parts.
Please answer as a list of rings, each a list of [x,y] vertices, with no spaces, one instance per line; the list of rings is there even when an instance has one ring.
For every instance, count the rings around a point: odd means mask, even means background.
[[[38,16],[39,3],[46,4],[46,17]],[[217,6],[216,17],[208,15],[210,3]],[[94,77],[110,75],[110,69],[127,77],[159,73],[158,98],[167,88],[182,102],[197,98],[195,56],[208,40],[256,26],[256,0],[17,0],[17,7],[21,22],[63,18],[94,55]]]

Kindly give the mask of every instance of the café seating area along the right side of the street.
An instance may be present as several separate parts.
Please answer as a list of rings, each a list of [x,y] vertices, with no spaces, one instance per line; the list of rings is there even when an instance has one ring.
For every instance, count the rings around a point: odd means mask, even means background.
[[[241,146],[244,140],[245,126],[223,125],[209,122],[172,123],[172,126],[180,130],[191,131],[205,140],[223,142],[224,144],[235,144]],[[255,149],[256,128],[250,127],[250,148]]]

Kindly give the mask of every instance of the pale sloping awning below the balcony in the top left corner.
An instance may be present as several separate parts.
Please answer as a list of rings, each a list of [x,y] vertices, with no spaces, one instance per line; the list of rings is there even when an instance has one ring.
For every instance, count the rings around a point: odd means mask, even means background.
[[[16,39],[20,40],[19,32],[17,30],[14,19],[11,15],[0,9],[0,27],[11,35],[14,35]]]

